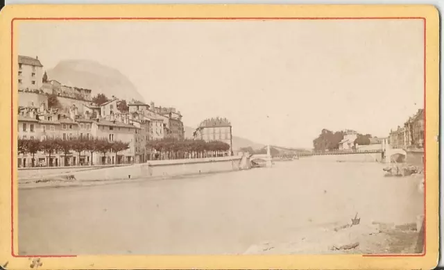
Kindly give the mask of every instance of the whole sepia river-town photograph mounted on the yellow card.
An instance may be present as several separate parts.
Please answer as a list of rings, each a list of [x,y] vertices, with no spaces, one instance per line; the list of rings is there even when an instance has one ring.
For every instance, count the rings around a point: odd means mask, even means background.
[[[19,255],[425,252],[424,19],[15,24]]]

